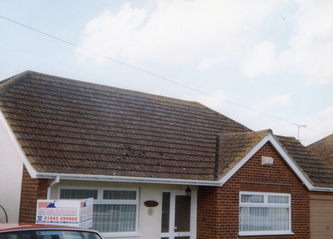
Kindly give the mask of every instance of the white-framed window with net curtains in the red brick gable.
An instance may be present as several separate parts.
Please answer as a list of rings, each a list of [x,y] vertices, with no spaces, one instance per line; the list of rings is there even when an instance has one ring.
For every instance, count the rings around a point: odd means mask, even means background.
[[[240,192],[239,235],[291,232],[290,194]]]

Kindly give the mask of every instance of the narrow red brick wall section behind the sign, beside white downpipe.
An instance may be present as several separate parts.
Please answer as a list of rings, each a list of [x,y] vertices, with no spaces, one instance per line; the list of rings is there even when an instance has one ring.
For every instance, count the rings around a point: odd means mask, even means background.
[[[20,204],[20,223],[34,223],[36,219],[37,199],[47,197],[47,179],[31,178],[27,169],[23,167],[21,204]]]

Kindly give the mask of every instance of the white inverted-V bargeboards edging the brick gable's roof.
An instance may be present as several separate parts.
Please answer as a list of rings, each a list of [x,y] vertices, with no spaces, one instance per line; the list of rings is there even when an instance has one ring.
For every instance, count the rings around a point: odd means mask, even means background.
[[[241,159],[222,179],[219,180],[221,184],[225,184],[256,152],[259,151],[267,142],[270,142],[276,151],[281,155],[281,157],[287,162],[294,173],[299,177],[299,179],[305,184],[309,190],[313,190],[314,186],[310,180],[305,176],[305,174],[298,168],[290,156],[286,153],[283,147],[278,143],[277,139],[268,133],[243,159]]]

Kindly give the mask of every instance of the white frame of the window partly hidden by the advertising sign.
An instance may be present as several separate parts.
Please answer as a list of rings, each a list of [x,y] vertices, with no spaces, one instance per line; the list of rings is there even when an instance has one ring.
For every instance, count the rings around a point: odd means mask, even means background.
[[[138,231],[139,225],[139,189],[138,188],[117,188],[117,187],[84,187],[84,186],[61,186],[58,188],[58,199],[60,199],[60,191],[62,189],[77,189],[77,190],[97,190],[97,199],[94,199],[94,204],[112,204],[112,205],[121,205],[121,204],[133,204],[136,205],[136,219],[135,219],[135,231],[133,232],[100,232],[103,237],[136,237],[140,236]],[[103,199],[104,190],[115,190],[115,191],[135,191],[136,199]],[[66,199],[65,199],[66,200]]]

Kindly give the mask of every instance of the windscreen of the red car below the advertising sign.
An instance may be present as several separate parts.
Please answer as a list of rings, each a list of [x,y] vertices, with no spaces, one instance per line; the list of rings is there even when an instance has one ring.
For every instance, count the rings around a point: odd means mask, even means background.
[[[102,239],[98,234],[85,231],[27,230],[2,232],[0,239]]]

